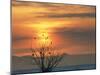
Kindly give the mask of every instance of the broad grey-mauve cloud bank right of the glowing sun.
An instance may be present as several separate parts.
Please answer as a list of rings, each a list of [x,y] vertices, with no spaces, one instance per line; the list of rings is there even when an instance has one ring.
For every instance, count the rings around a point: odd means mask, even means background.
[[[59,35],[59,37],[64,40],[63,42],[67,42],[67,40],[71,40],[70,42],[76,43],[77,45],[81,45],[84,42],[84,45],[86,44],[93,44],[95,42],[95,29],[89,29],[89,30],[81,30],[81,29],[75,29],[75,28],[56,28],[56,31],[52,34]],[[65,42],[65,43],[66,43]]]

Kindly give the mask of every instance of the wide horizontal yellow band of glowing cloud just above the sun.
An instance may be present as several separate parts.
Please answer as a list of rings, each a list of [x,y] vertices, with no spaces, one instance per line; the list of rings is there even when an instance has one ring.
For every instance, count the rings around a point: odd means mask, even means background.
[[[47,21],[47,22],[45,22]],[[36,30],[37,32],[52,32],[53,28],[60,28],[62,25],[59,22],[45,20],[43,22],[36,22],[27,27]]]

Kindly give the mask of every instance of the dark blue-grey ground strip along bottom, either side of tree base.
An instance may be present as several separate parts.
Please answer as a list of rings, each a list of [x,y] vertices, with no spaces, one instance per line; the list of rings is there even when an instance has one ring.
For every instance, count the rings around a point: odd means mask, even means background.
[[[64,67],[56,67],[52,72],[62,72],[62,71],[77,71],[77,70],[91,70],[96,69],[96,64],[82,64],[75,66],[64,66]],[[39,69],[30,69],[30,70],[17,70],[11,72],[11,75],[16,74],[31,74],[31,73],[42,73]]]

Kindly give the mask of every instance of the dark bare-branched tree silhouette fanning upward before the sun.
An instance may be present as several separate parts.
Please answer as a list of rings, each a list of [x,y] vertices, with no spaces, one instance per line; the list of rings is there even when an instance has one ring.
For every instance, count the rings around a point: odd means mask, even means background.
[[[47,40],[48,37],[44,39]],[[51,72],[63,58],[63,54],[52,47],[52,42],[49,46],[46,45],[47,43],[46,41],[40,48],[31,49],[33,60],[41,72]]]

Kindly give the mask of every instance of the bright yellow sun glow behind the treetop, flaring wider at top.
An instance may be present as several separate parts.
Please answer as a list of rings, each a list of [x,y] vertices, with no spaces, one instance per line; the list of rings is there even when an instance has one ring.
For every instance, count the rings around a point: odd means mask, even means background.
[[[50,32],[52,30],[50,28],[54,27],[53,23],[49,22],[42,22],[42,23],[36,23],[34,25],[30,25],[30,28],[34,30],[34,33],[36,33],[36,42],[37,45],[42,46],[49,46],[52,43]]]

